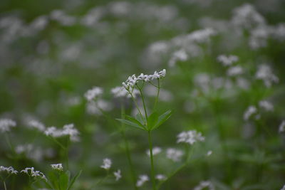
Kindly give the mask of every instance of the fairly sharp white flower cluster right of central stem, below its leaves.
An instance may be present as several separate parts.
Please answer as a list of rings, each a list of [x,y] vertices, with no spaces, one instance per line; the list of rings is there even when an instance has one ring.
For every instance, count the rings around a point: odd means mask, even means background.
[[[190,130],[187,132],[181,132],[177,135],[177,143],[185,142],[188,144],[194,144],[195,142],[204,141],[204,137],[201,132]]]

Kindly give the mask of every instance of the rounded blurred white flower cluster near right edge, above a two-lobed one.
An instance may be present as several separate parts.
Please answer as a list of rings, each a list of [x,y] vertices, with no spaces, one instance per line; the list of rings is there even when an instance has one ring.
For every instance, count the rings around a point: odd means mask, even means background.
[[[271,68],[266,64],[259,65],[255,78],[263,80],[267,88],[271,87],[272,83],[279,82],[279,78],[272,73]]]

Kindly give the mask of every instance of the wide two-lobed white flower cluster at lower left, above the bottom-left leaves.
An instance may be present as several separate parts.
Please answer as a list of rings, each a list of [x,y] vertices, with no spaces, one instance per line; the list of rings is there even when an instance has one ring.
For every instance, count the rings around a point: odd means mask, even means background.
[[[45,132],[46,136],[51,137],[63,137],[65,135],[69,135],[71,141],[78,142],[79,141],[79,132],[76,130],[73,124],[68,124],[63,126],[63,130],[57,129],[56,127],[48,127]]]

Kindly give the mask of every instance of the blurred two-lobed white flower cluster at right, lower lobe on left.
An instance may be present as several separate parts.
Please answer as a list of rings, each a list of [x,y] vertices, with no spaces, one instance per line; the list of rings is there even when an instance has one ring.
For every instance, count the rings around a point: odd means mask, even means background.
[[[256,107],[254,105],[250,105],[247,110],[244,112],[244,120],[249,120],[252,115],[255,115],[255,119],[259,120],[260,118],[260,109],[266,111],[266,112],[272,112],[274,110],[274,105],[271,104],[271,102],[268,102],[266,100],[259,101],[259,107]]]

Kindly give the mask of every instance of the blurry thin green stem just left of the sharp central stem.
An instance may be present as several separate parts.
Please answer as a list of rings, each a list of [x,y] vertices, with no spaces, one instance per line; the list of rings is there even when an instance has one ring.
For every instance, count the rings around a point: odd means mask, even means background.
[[[121,103],[121,117],[123,119],[125,119],[124,114],[125,114],[125,107],[124,107],[123,103]],[[128,139],[125,136],[125,124],[122,122],[121,125],[122,125],[121,134],[122,134],[123,140],[125,142],[125,153],[127,154],[127,158],[128,158],[128,164],[129,164],[129,167],[130,167],[130,174],[132,176],[134,189],[137,190],[138,186],[136,186],[136,184],[135,184],[135,181],[136,181],[136,179],[135,179],[135,169],[133,167],[132,158],[130,156],[130,148],[129,148],[129,144],[128,144]]]

